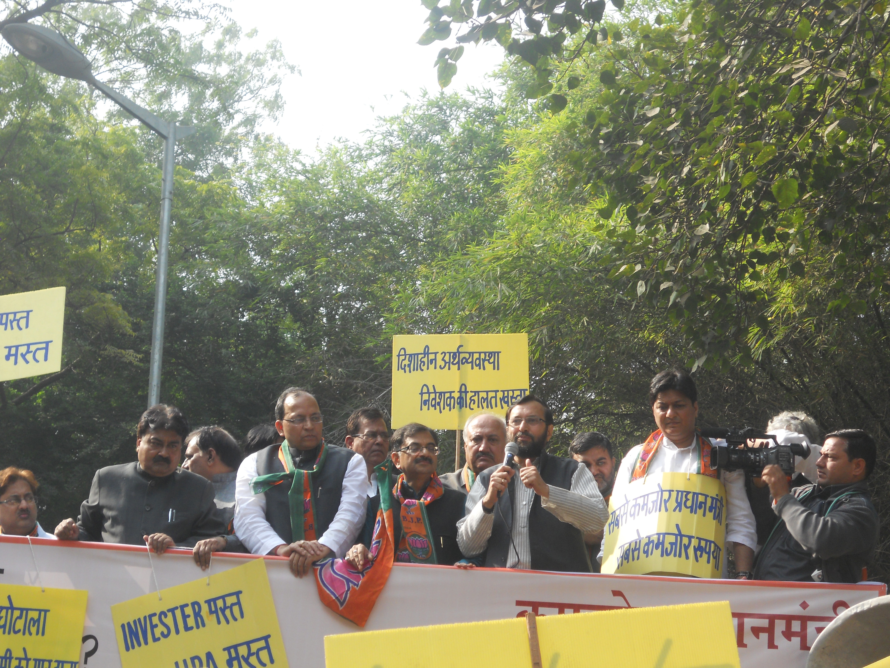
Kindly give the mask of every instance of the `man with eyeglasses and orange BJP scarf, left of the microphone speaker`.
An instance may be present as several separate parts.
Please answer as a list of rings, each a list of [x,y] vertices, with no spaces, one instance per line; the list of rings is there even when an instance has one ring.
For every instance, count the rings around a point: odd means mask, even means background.
[[[439,437],[417,422],[396,429],[390,440],[392,466],[399,470],[386,505],[392,508],[394,561],[452,566],[463,558],[457,546],[457,520],[464,517],[464,495],[442,485],[436,475]],[[391,479],[392,482],[392,479]],[[370,558],[357,543],[346,561],[361,570]]]

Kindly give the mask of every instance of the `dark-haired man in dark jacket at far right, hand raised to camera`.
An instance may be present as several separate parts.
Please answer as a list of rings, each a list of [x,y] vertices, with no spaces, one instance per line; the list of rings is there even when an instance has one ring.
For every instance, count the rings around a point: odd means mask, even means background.
[[[779,466],[762,477],[780,521],[761,550],[755,580],[859,582],[878,545],[878,512],[866,480],[875,467],[874,439],[862,429],[825,437],[816,485],[790,490]]]

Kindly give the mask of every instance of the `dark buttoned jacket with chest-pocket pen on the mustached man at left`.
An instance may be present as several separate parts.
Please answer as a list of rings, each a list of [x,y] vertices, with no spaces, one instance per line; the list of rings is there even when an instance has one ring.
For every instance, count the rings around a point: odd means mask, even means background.
[[[77,528],[81,541],[145,545],[142,536],[160,533],[187,548],[226,533],[209,480],[182,469],[150,476],[138,461],[96,471]]]

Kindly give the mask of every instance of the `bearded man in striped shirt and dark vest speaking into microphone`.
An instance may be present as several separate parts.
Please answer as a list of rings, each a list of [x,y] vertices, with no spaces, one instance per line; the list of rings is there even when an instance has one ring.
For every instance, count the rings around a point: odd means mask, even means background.
[[[535,395],[506,411],[507,436],[519,444],[516,468],[489,468],[466,497],[457,543],[485,566],[544,571],[591,570],[585,541],[609,517],[587,467],[546,452],[553,412]],[[518,475],[517,475],[518,473]]]

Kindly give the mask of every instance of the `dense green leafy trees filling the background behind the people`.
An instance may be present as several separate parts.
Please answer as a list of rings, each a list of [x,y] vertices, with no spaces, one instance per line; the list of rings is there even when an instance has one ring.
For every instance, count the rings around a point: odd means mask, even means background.
[[[318,159],[257,132],[293,68],[215,5],[3,4],[0,27],[61,29],[201,128],[177,155],[162,399],[242,437],[310,387],[336,443],[352,409],[388,409],[393,334],[527,331],[557,448],[639,443],[649,379],[685,365],[702,424],[869,429],[886,528],[886,3],[424,4],[442,86],[496,40],[503,92],[427,94]],[[0,465],[36,471],[44,526],[133,456],[159,152],[0,51],[0,294],[69,289],[64,371],[0,385]],[[888,569],[885,538],[870,576]]]

